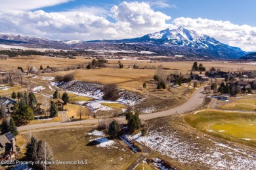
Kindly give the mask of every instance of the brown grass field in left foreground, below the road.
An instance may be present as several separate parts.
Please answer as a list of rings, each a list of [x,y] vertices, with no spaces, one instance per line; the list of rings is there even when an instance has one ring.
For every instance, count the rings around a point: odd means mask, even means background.
[[[53,150],[54,160],[87,160],[87,165],[53,165],[53,169],[126,169],[140,154],[133,154],[119,139],[114,139],[114,146],[101,148],[87,146],[91,136],[87,133],[91,127],[54,129],[34,132],[38,140],[47,141]],[[29,139],[29,134],[23,135]],[[97,138],[93,136],[93,139]]]

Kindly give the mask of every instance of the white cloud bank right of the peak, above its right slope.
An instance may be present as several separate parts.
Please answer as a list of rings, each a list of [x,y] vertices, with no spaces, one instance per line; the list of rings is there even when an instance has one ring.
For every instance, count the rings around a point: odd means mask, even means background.
[[[239,46],[243,50],[256,50],[256,27],[250,25],[237,25],[228,21],[216,21],[208,19],[176,18],[173,24],[195,30],[197,33],[209,35],[215,39]]]

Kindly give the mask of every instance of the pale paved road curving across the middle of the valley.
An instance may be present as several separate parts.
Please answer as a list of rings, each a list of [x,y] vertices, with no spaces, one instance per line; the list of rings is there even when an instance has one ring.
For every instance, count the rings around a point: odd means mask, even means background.
[[[194,110],[203,103],[203,99],[205,98],[205,94],[203,94],[203,87],[199,88],[192,94],[190,99],[186,101],[183,105],[176,107],[174,109],[169,109],[169,110],[164,110],[161,112],[154,112],[154,113],[149,113],[149,114],[140,114],[140,119],[141,120],[148,120],[152,118],[159,118],[163,116],[169,116],[172,114],[176,113],[183,113],[188,110]],[[118,117],[115,118],[116,120],[119,120],[120,122],[126,122],[125,117]],[[26,126],[20,126],[18,127],[18,131],[29,131],[29,130],[35,130],[35,129],[41,129],[41,128],[53,128],[56,126],[76,126],[79,124],[98,124],[102,119],[97,119],[97,118],[92,118],[92,119],[87,119],[87,120],[81,120],[81,121],[75,121],[75,122],[49,122],[49,123],[44,123],[44,124],[30,124]]]

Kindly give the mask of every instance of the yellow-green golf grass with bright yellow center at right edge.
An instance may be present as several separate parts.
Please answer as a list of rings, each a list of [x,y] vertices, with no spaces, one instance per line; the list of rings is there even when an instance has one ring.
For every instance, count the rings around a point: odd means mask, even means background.
[[[184,119],[204,133],[256,147],[255,113],[203,110]]]

